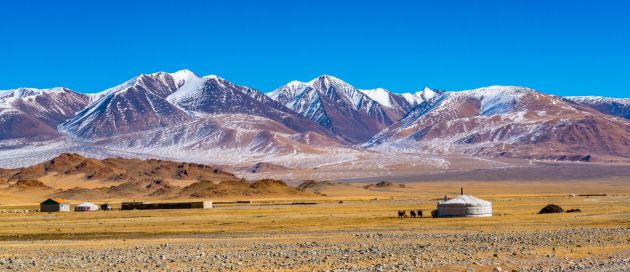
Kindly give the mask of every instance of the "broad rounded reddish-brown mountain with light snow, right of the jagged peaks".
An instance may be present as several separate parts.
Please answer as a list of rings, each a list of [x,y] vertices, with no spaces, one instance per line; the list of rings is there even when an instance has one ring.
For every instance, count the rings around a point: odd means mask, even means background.
[[[422,102],[366,148],[536,159],[630,156],[630,124],[523,87],[446,92]]]

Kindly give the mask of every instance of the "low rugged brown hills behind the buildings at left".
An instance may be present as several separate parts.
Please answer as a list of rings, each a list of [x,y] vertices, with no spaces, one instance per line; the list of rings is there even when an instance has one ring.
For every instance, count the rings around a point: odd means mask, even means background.
[[[0,180],[11,184],[0,189],[8,193],[37,191],[41,195],[49,190],[50,196],[71,200],[305,194],[280,180],[249,183],[208,165],[155,159],[98,160],[78,154],[62,154],[30,167],[0,170]]]

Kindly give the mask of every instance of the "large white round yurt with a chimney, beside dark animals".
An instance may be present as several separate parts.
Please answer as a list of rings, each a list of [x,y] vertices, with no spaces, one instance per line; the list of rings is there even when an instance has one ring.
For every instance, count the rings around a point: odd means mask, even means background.
[[[438,217],[481,217],[492,216],[492,203],[470,195],[438,201]]]

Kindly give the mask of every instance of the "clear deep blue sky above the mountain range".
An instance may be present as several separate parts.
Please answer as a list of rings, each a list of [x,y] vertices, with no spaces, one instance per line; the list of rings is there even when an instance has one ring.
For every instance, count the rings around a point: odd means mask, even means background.
[[[0,64],[0,89],[188,68],[262,91],[330,74],[630,97],[630,1],[5,1]]]

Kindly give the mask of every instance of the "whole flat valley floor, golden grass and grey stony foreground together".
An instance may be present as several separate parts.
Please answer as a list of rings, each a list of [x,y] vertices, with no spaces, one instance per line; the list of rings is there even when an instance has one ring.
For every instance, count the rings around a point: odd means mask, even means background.
[[[360,186],[209,210],[2,213],[0,270],[630,270],[630,183],[624,180]],[[459,186],[492,201],[494,216],[426,218],[440,193],[453,195]],[[568,196],[589,192],[608,195]],[[549,203],[582,212],[537,214]],[[3,206],[22,208],[31,207]],[[425,218],[396,215],[411,209],[424,210]]]

